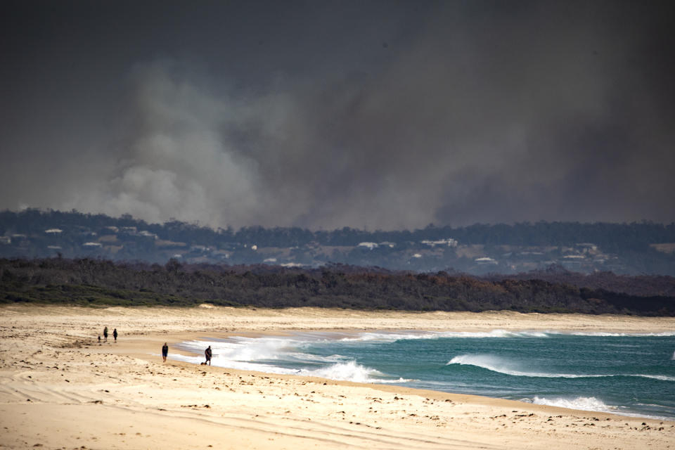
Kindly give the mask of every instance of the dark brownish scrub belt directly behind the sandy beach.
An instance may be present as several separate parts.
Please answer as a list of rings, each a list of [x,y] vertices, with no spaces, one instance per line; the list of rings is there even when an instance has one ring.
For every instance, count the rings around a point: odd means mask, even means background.
[[[347,270],[345,270],[347,269]],[[670,277],[669,277],[670,278]],[[669,283],[674,285],[671,278]],[[340,265],[115,264],[100,259],[0,259],[0,302],[255,307],[342,307],[411,311],[580,312],[675,316],[671,295],[629,295],[544,280],[385,273]]]

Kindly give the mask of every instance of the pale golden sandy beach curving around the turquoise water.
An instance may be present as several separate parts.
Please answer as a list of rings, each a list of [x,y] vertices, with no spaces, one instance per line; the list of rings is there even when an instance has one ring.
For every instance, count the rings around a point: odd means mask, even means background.
[[[0,308],[8,449],[675,449],[675,422],[195,366],[160,349],[291,330],[675,330],[673,318],[335,309]],[[108,326],[108,342],[97,337]],[[112,331],[120,333],[113,342]],[[101,336],[103,338],[103,336]],[[170,356],[170,354],[169,354]]]

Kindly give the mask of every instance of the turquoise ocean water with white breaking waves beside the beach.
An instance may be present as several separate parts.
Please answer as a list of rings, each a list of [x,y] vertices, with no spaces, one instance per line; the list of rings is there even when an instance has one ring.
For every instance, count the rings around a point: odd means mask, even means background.
[[[214,366],[675,420],[675,331],[311,332],[177,347],[203,354],[208,345]]]

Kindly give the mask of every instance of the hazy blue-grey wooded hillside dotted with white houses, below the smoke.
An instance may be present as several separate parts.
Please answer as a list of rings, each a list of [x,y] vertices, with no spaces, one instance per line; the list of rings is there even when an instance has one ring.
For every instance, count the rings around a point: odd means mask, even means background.
[[[94,257],[165,264],[340,263],[416,272],[515,275],[561,266],[675,276],[675,224],[475,224],[412,231],[210,229],[76,211],[0,212],[0,257]]]

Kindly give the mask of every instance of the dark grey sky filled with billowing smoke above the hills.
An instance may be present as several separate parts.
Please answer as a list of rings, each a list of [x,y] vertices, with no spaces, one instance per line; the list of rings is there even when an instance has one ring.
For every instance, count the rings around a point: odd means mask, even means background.
[[[7,1],[0,209],[675,220],[672,1]]]

